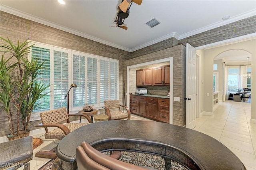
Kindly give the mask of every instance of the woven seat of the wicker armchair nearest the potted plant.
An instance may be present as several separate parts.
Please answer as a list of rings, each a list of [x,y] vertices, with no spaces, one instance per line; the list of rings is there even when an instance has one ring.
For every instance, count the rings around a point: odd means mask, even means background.
[[[65,126],[72,132],[73,130],[82,127],[84,125],[88,125],[89,123],[67,123]],[[49,131],[48,133],[44,134],[44,137],[46,139],[59,139],[62,140],[66,134],[60,129],[60,128],[55,128],[54,130]]]

